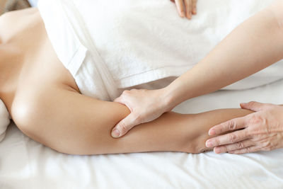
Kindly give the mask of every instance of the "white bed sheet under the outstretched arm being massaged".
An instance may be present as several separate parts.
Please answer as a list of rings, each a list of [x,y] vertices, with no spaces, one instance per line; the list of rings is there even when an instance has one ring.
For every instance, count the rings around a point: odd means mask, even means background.
[[[283,103],[283,80],[216,91],[174,110],[197,113],[248,101]],[[0,143],[0,188],[282,188],[283,149],[253,154],[151,152],[73,156],[26,137],[15,125]]]

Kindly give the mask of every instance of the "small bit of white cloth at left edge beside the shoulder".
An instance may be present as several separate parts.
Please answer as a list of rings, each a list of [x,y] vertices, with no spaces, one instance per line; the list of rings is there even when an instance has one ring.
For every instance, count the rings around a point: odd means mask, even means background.
[[[10,124],[9,113],[8,110],[0,99],[0,142],[4,139],[6,129]]]

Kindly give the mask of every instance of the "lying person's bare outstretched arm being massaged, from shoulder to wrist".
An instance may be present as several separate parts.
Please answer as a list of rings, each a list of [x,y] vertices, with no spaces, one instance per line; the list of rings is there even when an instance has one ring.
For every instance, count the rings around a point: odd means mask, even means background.
[[[134,127],[124,137],[114,139],[110,135],[112,127],[129,114],[125,105],[98,101],[57,86],[45,85],[37,91],[41,92],[16,99],[13,120],[30,138],[67,154],[198,153],[207,150],[204,142],[209,138],[210,127],[251,113],[241,109],[194,115],[165,113],[153,122]]]

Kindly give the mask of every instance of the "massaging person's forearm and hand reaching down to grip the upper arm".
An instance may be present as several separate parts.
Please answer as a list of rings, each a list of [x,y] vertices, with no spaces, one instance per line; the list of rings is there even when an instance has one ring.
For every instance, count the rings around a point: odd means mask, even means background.
[[[283,59],[282,8],[283,1],[277,0],[255,13],[168,86],[124,91],[115,102],[127,105],[132,113],[115,126],[113,137],[122,137],[183,101],[219,90]]]

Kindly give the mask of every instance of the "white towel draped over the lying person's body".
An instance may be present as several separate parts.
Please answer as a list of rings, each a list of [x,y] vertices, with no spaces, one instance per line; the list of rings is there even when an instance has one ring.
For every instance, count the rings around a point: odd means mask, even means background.
[[[113,100],[119,88],[180,76],[233,28],[272,0],[198,1],[197,16],[180,18],[169,0],[41,0],[54,50],[81,92]],[[283,78],[278,62],[226,89]]]

